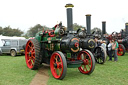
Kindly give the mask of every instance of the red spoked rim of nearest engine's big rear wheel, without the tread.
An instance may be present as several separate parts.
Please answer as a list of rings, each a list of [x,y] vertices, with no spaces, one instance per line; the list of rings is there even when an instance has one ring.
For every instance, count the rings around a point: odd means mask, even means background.
[[[31,40],[26,44],[25,59],[28,68],[32,69],[35,63],[35,48]]]

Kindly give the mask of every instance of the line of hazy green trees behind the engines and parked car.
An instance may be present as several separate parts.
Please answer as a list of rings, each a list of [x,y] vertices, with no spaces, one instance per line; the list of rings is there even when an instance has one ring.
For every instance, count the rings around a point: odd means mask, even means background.
[[[74,23],[73,29],[77,30],[78,28],[85,28],[86,29],[86,27],[79,25],[77,23]],[[47,30],[47,29],[50,29],[50,28],[47,26],[42,26],[40,24],[37,24],[33,27],[30,27],[28,29],[28,31],[26,33],[24,33],[19,28],[15,29],[15,28],[11,28],[10,26],[4,27],[4,28],[0,27],[0,35],[3,35],[3,36],[23,36],[23,37],[29,38],[29,37],[35,37],[37,32],[42,31],[42,30]],[[99,29],[99,28],[93,28],[91,31],[94,31],[96,29]]]

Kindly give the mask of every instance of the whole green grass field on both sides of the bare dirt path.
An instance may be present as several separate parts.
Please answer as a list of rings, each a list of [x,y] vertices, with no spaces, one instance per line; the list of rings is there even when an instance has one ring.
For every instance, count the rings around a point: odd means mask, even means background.
[[[128,85],[128,54],[118,62],[96,64],[91,75],[81,74],[77,68],[68,68],[63,80],[53,78],[50,69],[48,85]],[[24,56],[0,56],[0,85],[29,85],[37,71],[27,68]]]

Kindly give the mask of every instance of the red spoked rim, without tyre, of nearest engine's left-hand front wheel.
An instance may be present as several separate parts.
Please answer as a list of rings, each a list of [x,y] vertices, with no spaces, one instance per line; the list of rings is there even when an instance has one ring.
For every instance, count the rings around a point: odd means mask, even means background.
[[[50,60],[50,69],[51,69],[52,75],[56,79],[58,79],[62,76],[63,61],[62,61],[60,54],[58,54],[58,53],[52,54],[51,60]]]

